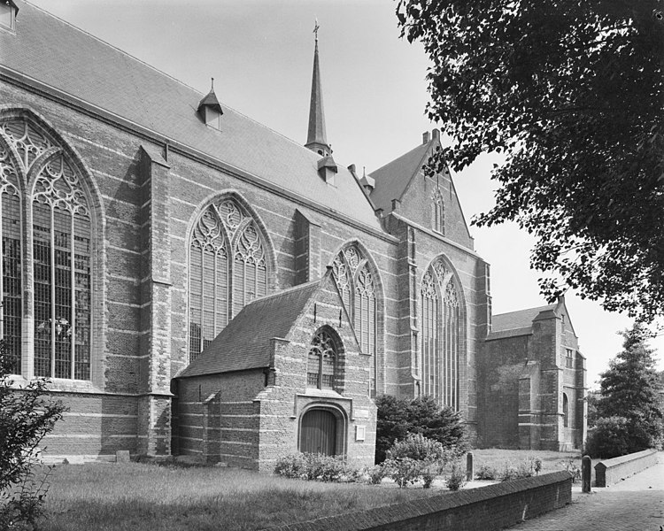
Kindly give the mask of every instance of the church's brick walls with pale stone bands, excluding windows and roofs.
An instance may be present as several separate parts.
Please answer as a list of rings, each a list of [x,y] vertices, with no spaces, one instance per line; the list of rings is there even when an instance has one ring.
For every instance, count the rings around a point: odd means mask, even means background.
[[[33,9],[21,10],[23,21]],[[534,322],[527,337],[484,341],[490,333],[489,266],[473,249],[449,173],[431,179],[412,168],[412,179],[404,175],[409,184],[402,196],[394,197],[394,212],[360,222],[359,215],[351,218],[313,202],[306,188],[289,191],[187,145],[171,145],[164,135],[3,65],[0,102],[0,119],[27,119],[61,144],[81,174],[91,209],[90,379],[53,382],[54,396],[69,413],[44,441],[47,453],[200,454],[268,470],[276,458],[298,450],[301,419],[320,408],[339,422],[340,451],[358,465],[370,465],[374,395],[412,398],[421,386],[421,280],[437,258],[444,259],[459,288],[459,411],[471,439],[556,450],[583,441],[583,357],[577,355],[573,369],[561,364],[565,348],[578,346],[567,315],[567,324],[561,315]],[[253,149],[247,148],[247,167]],[[275,159],[274,167],[282,162]],[[320,180],[315,169],[302,171],[309,170]],[[290,177],[282,175],[283,182]],[[440,232],[431,218],[436,187],[444,200]],[[189,365],[190,238],[205,209],[224,197],[242,204],[258,227],[268,296],[323,279],[350,245],[362,251],[376,287],[374,395],[370,355],[360,351],[346,314],[339,323],[341,303],[329,279],[289,336],[275,339],[269,366],[176,380]],[[29,222],[31,209],[23,206]],[[30,252],[27,246],[27,257]],[[32,269],[25,262],[22,376],[29,379],[35,322]],[[334,393],[306,386],[307,349],[323,324],[344,345],[343,377]],[[568,427],[563,393],[570,406]],[[356,437],[359,427],[364,440]]]

